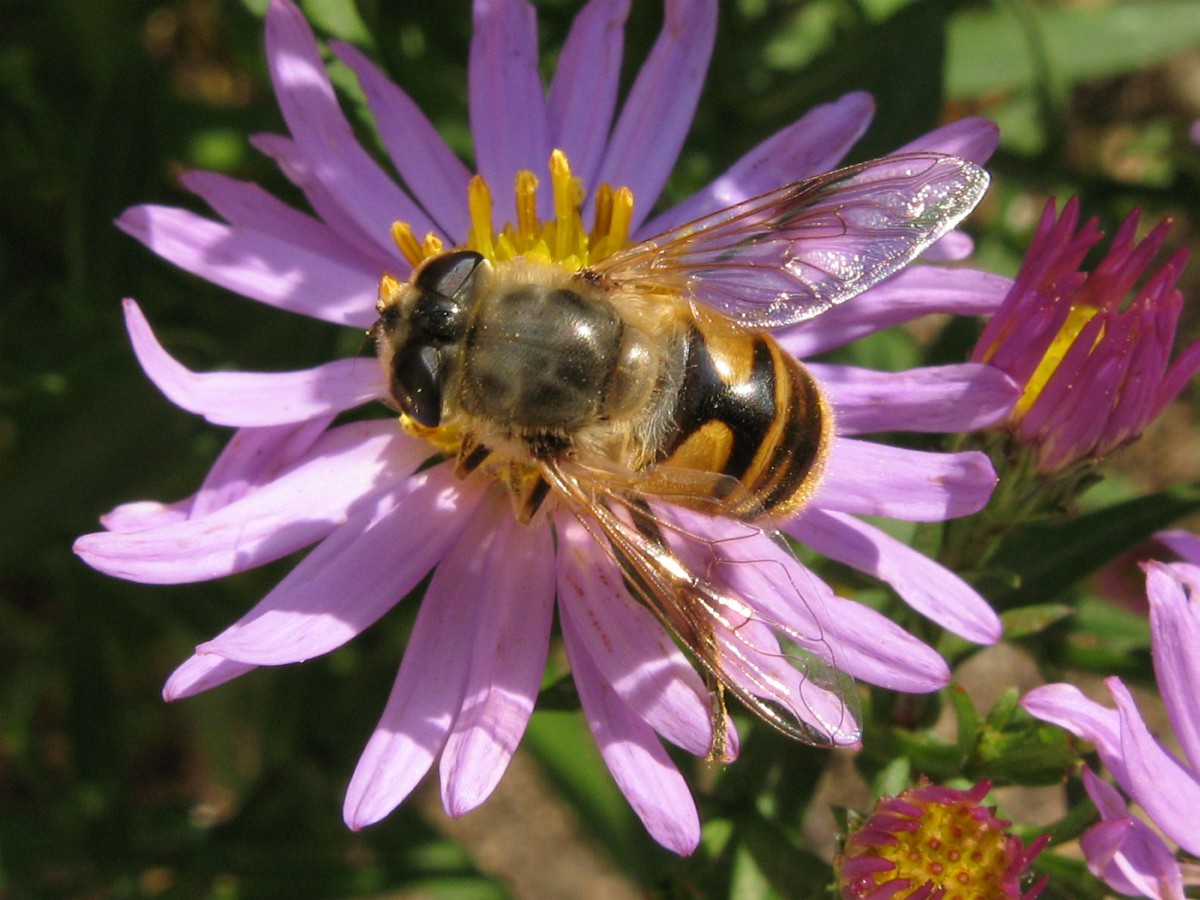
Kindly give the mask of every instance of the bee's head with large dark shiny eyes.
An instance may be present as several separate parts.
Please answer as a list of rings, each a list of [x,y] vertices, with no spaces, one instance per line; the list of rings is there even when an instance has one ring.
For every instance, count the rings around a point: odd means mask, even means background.
[[[426,427],[442,421],[442,395],[454,348],[467,328],[484,257],[458,250],[425,260],[407,284],[384,278],[372,328],[401,410]]]

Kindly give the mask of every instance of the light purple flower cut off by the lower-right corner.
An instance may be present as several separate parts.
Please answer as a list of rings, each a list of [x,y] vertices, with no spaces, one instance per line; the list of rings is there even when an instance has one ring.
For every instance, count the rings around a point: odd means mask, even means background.
[[[1158,689],[1183,750],[1168,752],[1150,733],[1129,690],[1109,678],[1116,709],[1096,703],[1069,684],[1048,684],[1021,701],[1032,715],[1060,725],[1096,745],[1121,791],[1162,834],[1192,856],[1200,854],[1200,568],[1147,563],[1146,593]],[[1088,868],[1114,890],[1133,896],[1183,900],[1184,869],[1158,833],[1135,818],[1111,785],[1087,768],[1084,786],[1100,822],[1080,840]],[[1190,880],[1188,880],[1190,882]]]

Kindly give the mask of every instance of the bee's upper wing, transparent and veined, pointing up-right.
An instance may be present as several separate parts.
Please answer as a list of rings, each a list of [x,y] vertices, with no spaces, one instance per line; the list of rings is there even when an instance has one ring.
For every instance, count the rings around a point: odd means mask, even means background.
[[[782,328],[902,269],[986,187],[988,173],[955,156],[884,156],[672,228],[593,271],[635,289],[682,289],[748,328]]]

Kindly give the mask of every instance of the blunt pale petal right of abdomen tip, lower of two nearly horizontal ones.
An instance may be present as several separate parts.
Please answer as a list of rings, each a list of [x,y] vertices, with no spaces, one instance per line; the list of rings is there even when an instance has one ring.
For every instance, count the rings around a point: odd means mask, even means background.
[[[978,512],[996,473],[984,454],[931,454],[838,438],[814,506],[911,522],[941,522]]]

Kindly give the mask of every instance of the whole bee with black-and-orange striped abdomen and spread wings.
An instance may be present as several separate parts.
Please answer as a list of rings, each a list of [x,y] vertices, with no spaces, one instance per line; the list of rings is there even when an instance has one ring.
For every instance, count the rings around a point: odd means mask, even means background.
[[[745,595],[736,574],[755,562],[736,540],[671,510],[757,534],[811,498],[834,416],[770,331],[907,265],[986,185],[965,160],[901,154],[737,203],[576,271],[454,250],[407,283],[382,284],[373,334],[406,426],[452,454],[461,478],[498,479],[520,521],[562,505],[584,524],[706,671],[714,757],[727,751],[726,690],[808,743],[833,743],[844,725],[769,660],[799,664],[804,686],[832,708],[845,710],[853,689],[820,635]]]

